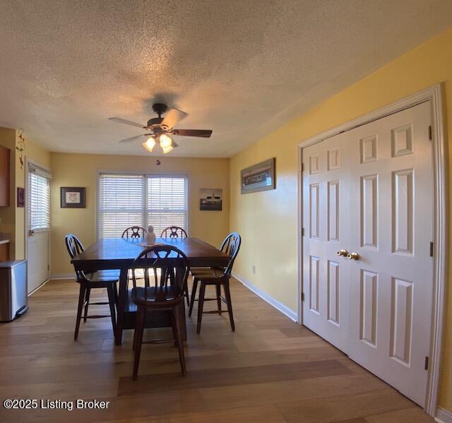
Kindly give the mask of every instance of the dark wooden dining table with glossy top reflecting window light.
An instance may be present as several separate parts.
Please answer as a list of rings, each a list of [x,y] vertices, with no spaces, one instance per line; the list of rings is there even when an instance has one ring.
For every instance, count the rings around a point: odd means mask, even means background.
[[[129,269],[133,261],[147,247],[143,239],[104,238],[90,245],[85,251],[71,260],[76,270],[120,270],[119,293],[117,304],[116,345],[121,345],[122,331],[135,328],[137,307],[131,299],[128,290]],[[201,239],[187,238],[157,238],[156,244],[177,247],[189,259],[190,267],[227,266],[230,256],[203,242]],[[184,302],[182,302],[184,307]],[[182,314],[185,316],[185,314]],[[186,339],[185,319],[181,322],[184,339]],[[171,318],[163,313],[146,314],[145,328],[162,328],[171,326]]]

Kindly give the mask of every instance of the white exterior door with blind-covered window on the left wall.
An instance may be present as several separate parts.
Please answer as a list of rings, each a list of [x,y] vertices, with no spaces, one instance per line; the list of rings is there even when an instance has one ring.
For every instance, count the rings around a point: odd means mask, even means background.
[[[50,175],[28,164],[28,293],[49,279]]]

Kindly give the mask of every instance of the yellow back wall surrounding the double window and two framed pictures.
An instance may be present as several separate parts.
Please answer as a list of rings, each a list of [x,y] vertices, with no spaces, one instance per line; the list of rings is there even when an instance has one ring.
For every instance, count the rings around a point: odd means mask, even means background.
[[[52,153],[52,275],[72,273],[64,236],[72,232],[89,245],[96,238],[97,170],[126,170],[152,174],[186,174],[189,177],[189,235],[219,246],[229,226],[229,159]],[[85,186],[86,208],[60,208],[61,186]],[[221,212],[199,210],[199,190],[221,188]]]

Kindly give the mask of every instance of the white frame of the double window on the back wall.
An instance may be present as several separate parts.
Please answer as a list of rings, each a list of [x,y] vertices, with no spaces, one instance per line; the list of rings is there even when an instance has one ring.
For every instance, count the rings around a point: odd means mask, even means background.
[[[184,178],[186,180],[186,228],[184,228],[189,234],[190,230],[190,178],[188,174],[181,173],[157,173],[157,172],[149,172],[149,171],[136,171],[136,170],[109,170],[109,169],[97,169],[96,170],[96,211],[95,211],[95,225],[96,225],[96,239],[100,239],[100,176],[102,174],[114,174],[114,175],[136,175],[148,178],[148,177],[157,177],[157,178]],[[144,214],[147,213],[147,201],[148,201],[148,190],[147,190],[147,182],[144,184],[144,193],[143,199],[145,202]],[[124,228],[126,229],[126,228]],[[157,237],[160,237],[160,234],[156,234]]]

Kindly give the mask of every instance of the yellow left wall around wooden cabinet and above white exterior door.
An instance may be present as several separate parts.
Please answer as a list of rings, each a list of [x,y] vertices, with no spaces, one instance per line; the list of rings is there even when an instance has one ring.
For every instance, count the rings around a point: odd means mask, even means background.
[[[25,157],[47,167],[50,165],[50,153],[26,136],[25,139],[24,166],[20,169],[20,153],[16,150],[19,141],[18,131],[0,128],[0,144],[11,150],[11,200],[9,207],[0,208],[0,216],[3,218],[0,232],[10,234],[11,259],[25,258],[25,208],[17,207],[17,188],[25,188]]]

